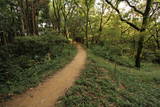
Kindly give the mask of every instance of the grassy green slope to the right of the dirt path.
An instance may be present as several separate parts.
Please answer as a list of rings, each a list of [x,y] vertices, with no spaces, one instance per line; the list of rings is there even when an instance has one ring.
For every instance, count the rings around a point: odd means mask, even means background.
[[[107,71],[108,70],[108,71]],[[64,107],[159,107],[160,70],[141,72],[88,55],[87,68],[60,99]]]

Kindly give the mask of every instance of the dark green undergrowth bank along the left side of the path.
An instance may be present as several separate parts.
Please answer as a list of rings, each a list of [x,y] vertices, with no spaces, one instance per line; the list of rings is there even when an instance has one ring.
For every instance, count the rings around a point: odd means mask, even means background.
[[[76,52],[75,46],[57,35],[20,37],[15,44],[1,47],[0,100],[37,86],[69,63]]]

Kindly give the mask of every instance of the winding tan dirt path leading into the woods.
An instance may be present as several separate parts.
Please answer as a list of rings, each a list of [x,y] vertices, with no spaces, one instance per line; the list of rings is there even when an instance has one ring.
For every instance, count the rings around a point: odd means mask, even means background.
[[[57,99],[73,85],[80,71],[84,68],[86,52],[80,45],[77,45],[77,49],[76,57],[65,68],[38,87],[14,97],[2,107],[54,107]]]

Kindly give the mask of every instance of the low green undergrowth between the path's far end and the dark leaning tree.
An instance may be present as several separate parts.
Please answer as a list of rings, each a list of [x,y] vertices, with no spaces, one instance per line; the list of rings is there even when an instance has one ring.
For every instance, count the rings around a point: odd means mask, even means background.
[[[125,56],[121,47],[111,45],[111,43],[101,43],[101,45],[94,45],[91,47],[94,54],[101,56],[110,61],[116,62],[119,65],[133,67],[134,62],[132,57]]]

